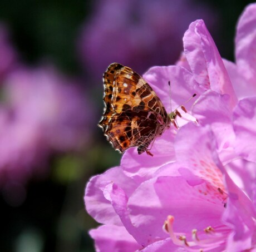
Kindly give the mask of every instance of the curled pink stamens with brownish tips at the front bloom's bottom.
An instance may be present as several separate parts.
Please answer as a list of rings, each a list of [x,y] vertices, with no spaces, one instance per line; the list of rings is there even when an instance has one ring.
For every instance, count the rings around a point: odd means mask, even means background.
[[[230,234],[230,228],[225,225],[220,226],[208,226],[204,230],[198,231],[196,229],[191,230],[191,234],[174,233],[173,229],[174,216],[169,215],[164,223],[163,229],[170,235],[173,243],[178,246],[184,246],[187,251],[209,251],[215,248],[224,246],[228,235]],[[191,236],[191,239],[187,239]]]

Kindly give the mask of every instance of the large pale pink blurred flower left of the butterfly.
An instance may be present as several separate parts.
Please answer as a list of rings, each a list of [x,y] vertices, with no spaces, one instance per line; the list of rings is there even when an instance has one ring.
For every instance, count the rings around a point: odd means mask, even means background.
[[[88,144],[92,111],[75,81],[52,68],[22,68],[8,74],[2,92],[0,185],[7,191],[46,174],[52,152]]]

